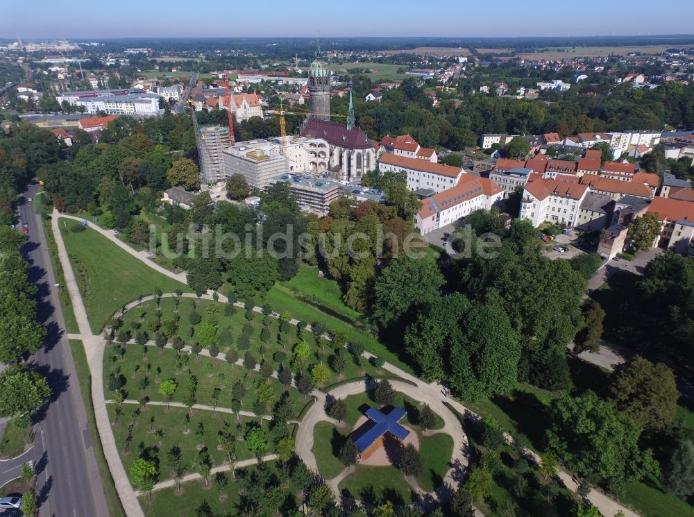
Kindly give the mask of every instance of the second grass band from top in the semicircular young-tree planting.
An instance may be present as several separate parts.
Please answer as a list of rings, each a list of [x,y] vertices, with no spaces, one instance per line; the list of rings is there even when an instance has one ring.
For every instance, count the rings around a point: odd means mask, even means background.
[[[158,349],[153,346],[148,346],[147,359],[144,359],[143,347],[135,344],[129,344],[125,347],[125,355],[122,359],[118,355],[118,345],[112,345],[106,348],[104,353],[104,393],[107,397],[110,396],[108,390],[108,377],[111,373],[122,375],[121,380],[125,380],[125,384],[121,389],[127,392],[127,398],[139,399],[142,397],[142,389],[139,386],[139,380],[147,375],[147,365],[150,366],[149,386],[144,389],[144,396],[149,400],[164,401],[164,398],[159,393],[160,382],[156,381],[158,370],[161,368],[159,378],[161,380],[173,378],[178,382],[178,387],[174,397],[171,399],[174,402],[185,402],[185,393],[187,389],[188,374],[198,377],[198,390],[196,393],[197,403],[203,405],[213,405],[212,393],[215,388],[221,390],[218,407],[230,407],[231,405],[231,386],[239,379],[244,380],[246,384],[246,396],[242,400],[243,409],[253,411],[253,402],[255,402],[256,387],[262,381],[260,373],[249,371],[244,366],[237,364],[228,364],[221,359],[213,359],[200,355],[188,355],[181,353],[180,360],[183,363],[180,370],[177,371],[176,361],[178,355],[171,348]],[[115,358],[115,361],[114,361]],[[135,371],[137,370],[137,377]],[[221,374],[221,375],[220,375]],[[279,400],[285,387],[278,380],[271,378],[276,400]],[[305,405],[305,400],[298,393],[296,388],[291,387],[290,393],[293,395],[293,414],[298,415],[301,408]],[[271,407],[268,407],[268,413]]]

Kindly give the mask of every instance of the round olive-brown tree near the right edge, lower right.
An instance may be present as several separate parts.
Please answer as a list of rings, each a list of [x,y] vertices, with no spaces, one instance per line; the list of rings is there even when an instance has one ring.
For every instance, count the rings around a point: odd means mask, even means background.
[[[610,402],[647,431],[663,430],[677,412],[675,374],[663,363],[636,356],[613,376]]]

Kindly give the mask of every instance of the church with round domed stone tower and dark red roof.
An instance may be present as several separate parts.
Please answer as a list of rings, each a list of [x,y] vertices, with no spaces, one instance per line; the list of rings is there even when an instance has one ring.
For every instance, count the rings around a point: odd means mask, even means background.
[[[348,181],[352,185],[362,183],[366,171],[375,169],[376,151],[373,141],[361,128],[355,126],[352,92],[350,92],[347,124],[330,120],[330,68],[316,57],[308,74],[308,92],[311,115],[306,118],[301,135],[322,138],[330,146],[328,173],[330,178]]]

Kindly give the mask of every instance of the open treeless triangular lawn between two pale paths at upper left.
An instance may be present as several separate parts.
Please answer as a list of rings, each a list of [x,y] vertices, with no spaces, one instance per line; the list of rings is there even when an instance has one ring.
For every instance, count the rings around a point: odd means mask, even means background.
[[[156,288],[164,292],[177,289],[190,292],[187,285],[154,271],[92,228],[78,233],[69,231],[72,224],[78,223],[70,220],[67,228],[60,225],[60,231],[73,270],[78,260],[87,274],[85,293],[84,282],[75,271],[93,332],[101,332],[108,318],[120,307],[139,296],[153,294]]]

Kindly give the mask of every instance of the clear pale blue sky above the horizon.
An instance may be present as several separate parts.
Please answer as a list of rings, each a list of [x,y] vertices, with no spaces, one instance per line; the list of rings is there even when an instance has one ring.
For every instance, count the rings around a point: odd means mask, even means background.
[[[606,8],[606,5],[615,8]],[[0,0],[0,37],[592,36],[691,34],[694,1]]]

